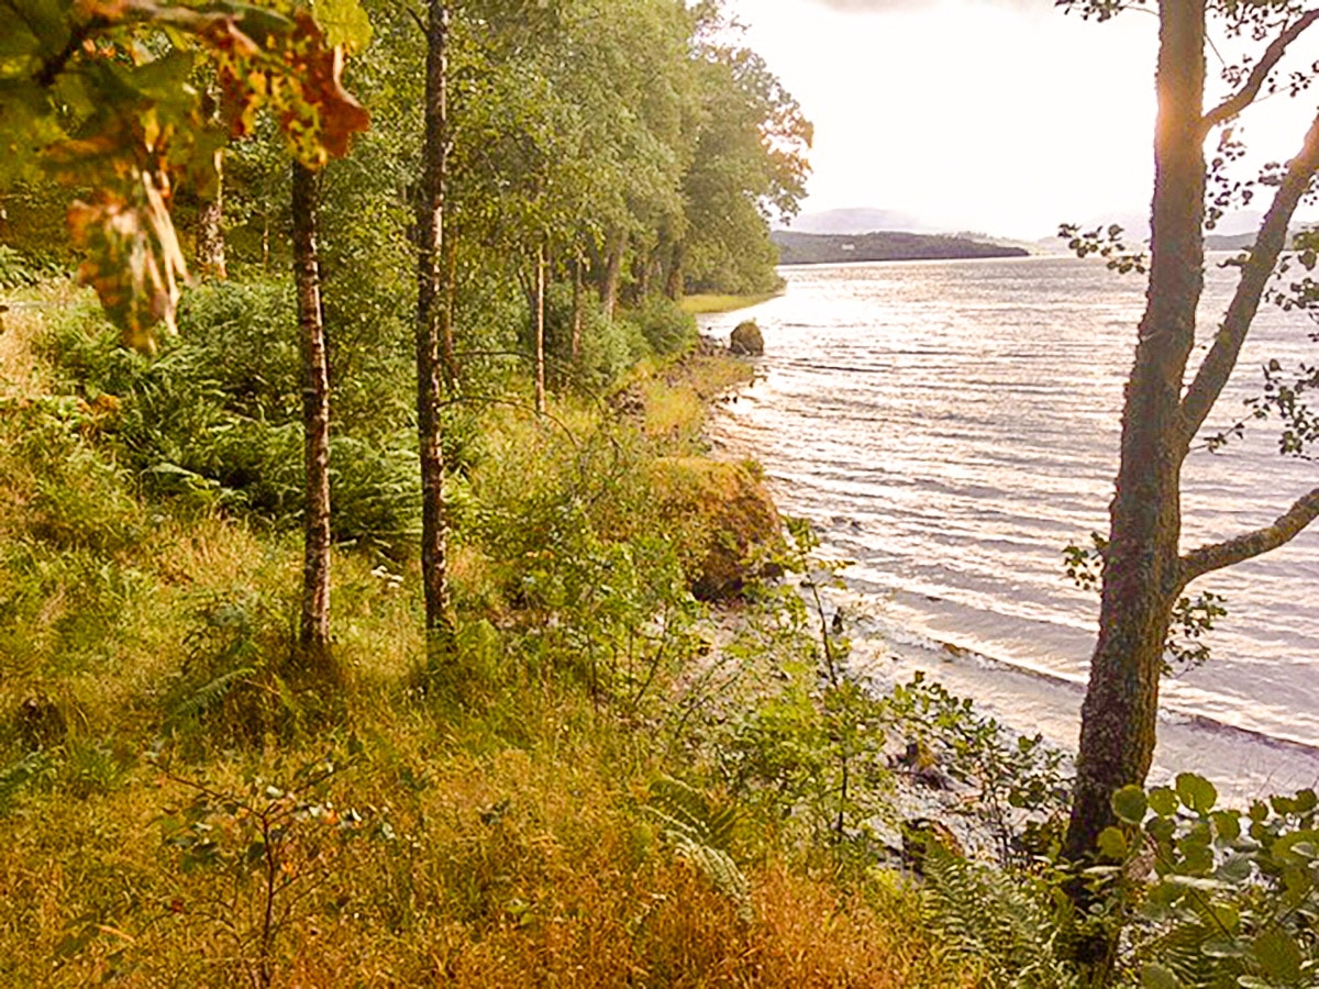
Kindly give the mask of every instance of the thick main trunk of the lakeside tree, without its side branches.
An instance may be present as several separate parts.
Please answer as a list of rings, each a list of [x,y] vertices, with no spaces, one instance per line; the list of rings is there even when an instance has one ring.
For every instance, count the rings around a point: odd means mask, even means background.
[[[1115,823],[1115,790],[1144,785],[1154,756],[1159,674],[1183,588],[1182,382],[1204,282],[1204,0],[1161,11],[1150,282],[1122,410],[1099,641],[1082,708],[1066,853],[1080,861]]]

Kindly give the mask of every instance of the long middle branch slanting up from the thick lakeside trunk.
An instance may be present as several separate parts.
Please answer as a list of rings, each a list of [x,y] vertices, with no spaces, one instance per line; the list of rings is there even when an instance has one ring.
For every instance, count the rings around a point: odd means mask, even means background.
[[[1319,116],[1310,124],[1301,153],[1287,165],[1278,191],[1273,196],[1250,257],[1241,266],[1241,281],[1228,306],[1223,326],[1213,339],[1213,345],[1204,356],[1195,380],[1182,400],[1183,439],[1187,444],[1199,433],[1213,404],[1219,400],[1232,369],[1241,353],[1241,344],[1250,330],[1250,322],[1260,309],[1264,289],[1273,276],[1278,255],[1287,244],[1287,227],[1297,211],[1301,198],[1310,187],[1315,171],[1319,170]]]

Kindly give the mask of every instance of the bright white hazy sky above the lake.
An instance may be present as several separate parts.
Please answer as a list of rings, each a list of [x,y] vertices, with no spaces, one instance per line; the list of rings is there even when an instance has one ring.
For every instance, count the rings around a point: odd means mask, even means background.
[[[1053,0],[729,8],[815,124],[803,211],[882,208],[911,228],[1028,240],[1063,222],[1132,228],[1149,214],[1158,21],[1148,12],[1097,24]],[[1283,103],[1246,124],[1282,160],[1307,123]]]

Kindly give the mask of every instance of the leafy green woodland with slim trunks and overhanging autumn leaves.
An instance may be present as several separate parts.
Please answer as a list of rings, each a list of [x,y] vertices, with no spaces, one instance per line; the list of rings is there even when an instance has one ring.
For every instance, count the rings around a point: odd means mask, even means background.
[[[450,400],[524,380],[545,413],[546,389],[599,388],[682,347],[685,291],[773,287],[766,220],[803,194],[811,129],[718,3],[335,0],[314,15],[7,4],[0,120],[25,137],[0,175],[0,235],[49,252],[74,200],[82,277],[140,348],[154,323],[173,328],[189,269],[291,272],[301,647],[322,667],[331,427],[388,430],[397,411],[353,392],[397,385],[415,349],[426,625],[442,646]]]

